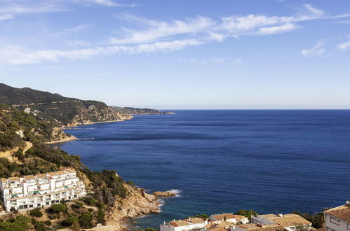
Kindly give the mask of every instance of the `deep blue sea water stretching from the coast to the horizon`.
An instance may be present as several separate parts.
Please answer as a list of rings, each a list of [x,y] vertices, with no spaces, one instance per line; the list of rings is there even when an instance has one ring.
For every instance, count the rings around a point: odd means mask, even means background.
[[[93,170],[180,191],[141,228],[194,214],[314,212],[350,200],[350,111],[175,111],[67,130]]]

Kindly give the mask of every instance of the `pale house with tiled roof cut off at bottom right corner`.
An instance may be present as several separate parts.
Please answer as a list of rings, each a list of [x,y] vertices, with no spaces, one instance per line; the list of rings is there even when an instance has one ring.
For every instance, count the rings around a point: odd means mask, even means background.
[[[350,201],[334,209],[328,209],[323,214],[325,216],[325,231],[350,230]]]

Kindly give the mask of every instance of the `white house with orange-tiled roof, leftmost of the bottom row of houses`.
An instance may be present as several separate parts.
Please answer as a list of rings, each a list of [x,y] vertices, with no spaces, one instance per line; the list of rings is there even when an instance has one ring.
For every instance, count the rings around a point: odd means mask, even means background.
[[[160,231],[182,231],[182,230],[201,230],[208,225],[208,221],[203,218],[188,218],[184,220],[173,220],[169,223],[160,225]]]

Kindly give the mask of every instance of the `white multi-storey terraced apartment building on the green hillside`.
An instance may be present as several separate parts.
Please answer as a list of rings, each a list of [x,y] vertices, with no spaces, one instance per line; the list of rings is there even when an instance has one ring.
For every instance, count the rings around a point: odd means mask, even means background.
[[[34,209],[86,196],[83,181],[70,168],[36,176],[0,179],[0,190],[6,211],[11,208]]]

